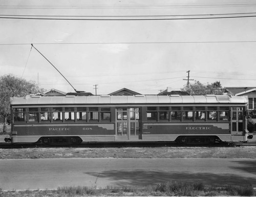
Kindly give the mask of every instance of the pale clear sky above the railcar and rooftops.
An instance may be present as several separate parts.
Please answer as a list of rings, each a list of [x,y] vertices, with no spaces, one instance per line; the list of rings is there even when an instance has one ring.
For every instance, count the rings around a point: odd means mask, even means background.
[[[0,76],[100,95],[180,90],[187,71],[191,84],[256,86],[256,17],[226,16],[256,16],[256,2],[0,0]]]

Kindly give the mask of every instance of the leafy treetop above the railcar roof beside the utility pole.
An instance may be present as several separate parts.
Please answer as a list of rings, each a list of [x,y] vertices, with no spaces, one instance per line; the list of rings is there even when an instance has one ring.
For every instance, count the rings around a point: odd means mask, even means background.
[[[185,86],[181,91],[188,92],[190,95],[223,94],[220,81],[204,85],[200,81],[195,80],[194,84]]]

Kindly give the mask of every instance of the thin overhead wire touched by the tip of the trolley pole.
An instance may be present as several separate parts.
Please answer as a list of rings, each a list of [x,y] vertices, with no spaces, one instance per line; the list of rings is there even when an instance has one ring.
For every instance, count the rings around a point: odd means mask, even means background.
[[[242,41],[173,41],[173,42],[65,42],[65,43],[34,43],[34,45],[120,45],[120,44],[169,44],[169,43],[250,43],[256,40]],[[0,46],[10,45],[31,45],[31,43],[0,43]]]

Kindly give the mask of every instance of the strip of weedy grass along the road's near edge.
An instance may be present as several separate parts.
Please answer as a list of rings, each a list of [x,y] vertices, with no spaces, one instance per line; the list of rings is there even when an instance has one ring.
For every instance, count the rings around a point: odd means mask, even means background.
[[[158,185],[126,186],[96,189],[93,187],[59,187],[56,190],[24,190],[24,191],[3,191],[0,189],[0,196],[21,197],[21,196],[51,196],[51,197],[70,197],[70,196],[217,196],[217,195],[237,195],[254,196],[255,191],[252,186],[209,186],[203,183],[187,182],[165,182]]]

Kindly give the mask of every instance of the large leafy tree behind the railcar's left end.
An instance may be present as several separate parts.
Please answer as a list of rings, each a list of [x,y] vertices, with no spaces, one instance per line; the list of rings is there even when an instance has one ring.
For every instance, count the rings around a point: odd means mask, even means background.
[[[6,133],[7,119],[10,117],[10,97],[24,97],[37,93],[34,81],[26,81],[12,74],[0,77],[0,114],[4,118],[3,133]]]

